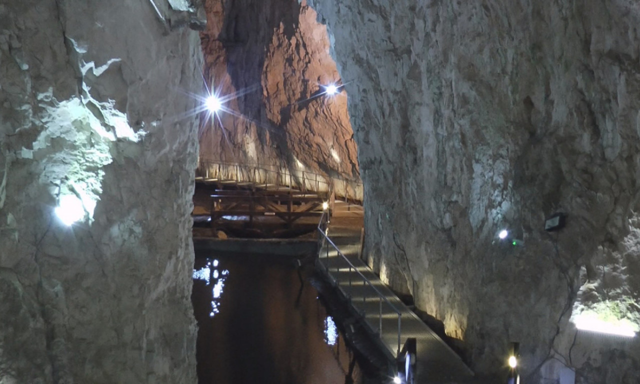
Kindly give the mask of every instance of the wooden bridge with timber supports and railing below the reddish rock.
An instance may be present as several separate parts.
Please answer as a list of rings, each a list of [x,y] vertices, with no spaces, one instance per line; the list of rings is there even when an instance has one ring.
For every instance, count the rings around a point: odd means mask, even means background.
[[[276,218],[286,228],[303,221],[312,230],[336,197],[362,202],[359,181],[281,166],[201,160],[195,180],[194,215],[208,216],[212,228],[273,226]]]

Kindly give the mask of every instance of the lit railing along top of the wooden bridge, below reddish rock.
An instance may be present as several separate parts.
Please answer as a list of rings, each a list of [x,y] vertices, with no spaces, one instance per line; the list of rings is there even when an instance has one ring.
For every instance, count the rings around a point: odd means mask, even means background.
[[[257,179],[262,179],[266,183],[270,180],[278,185],[289,186],[289,188],[295,186],[303,192],[333,192],[337,196],[358,202],[362,202],[363,198],[364,189],[360,181],[337,177],[330,178],[305,170],[290,170],[286,166],[277,164],[232,163],[200,159],[198,168],[196,168],[196,176],[209,177],[210,172],[218,175],[227,173],[228,177],[235,177],[237,182],[256,182]],[[260,175],[260,173],[262,174]],[[340,188],[340,184],[342,184],[342,188]]]

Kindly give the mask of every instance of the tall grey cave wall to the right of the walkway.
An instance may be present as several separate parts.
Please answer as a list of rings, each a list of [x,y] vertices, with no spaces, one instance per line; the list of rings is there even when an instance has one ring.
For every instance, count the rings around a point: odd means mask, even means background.
[[[637,337],[574,324],[640,324],[637,4],[310,5],[349,93],[383,280],[480,374],[504,371],[517,341],[523,382],[639,381]],[[549,234],[557,211],[566,228]]]

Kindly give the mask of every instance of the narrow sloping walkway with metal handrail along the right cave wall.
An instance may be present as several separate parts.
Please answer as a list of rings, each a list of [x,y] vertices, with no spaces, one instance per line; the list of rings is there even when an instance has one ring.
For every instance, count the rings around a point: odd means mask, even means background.
[[[349,262],[356,266],[360,273],[401,312],[401,344],[404,344],[409,337],[417,340],[417,372],[414,383],[473,383],[474,374],[463,363],[460,356],[456,355],[435,332],[406,307],[358,258],[362,216],[362,207],[336,202],[328,236]],[[382,312],[380,344],[386,348],[388,355],[395,359],[398,352],[396,312],[385,301],[378,298],[378,294],[372,287],[363,284],[362,278],[333,250],[333,247],[329,248],[328,258],[326,248],[321,250],[319,262],[330,271],[330,278],[336,282],[342,294],[351,298],[351,305],[355,310],[364,314],[366,323],[373,333],[378,333],[379,314]]]

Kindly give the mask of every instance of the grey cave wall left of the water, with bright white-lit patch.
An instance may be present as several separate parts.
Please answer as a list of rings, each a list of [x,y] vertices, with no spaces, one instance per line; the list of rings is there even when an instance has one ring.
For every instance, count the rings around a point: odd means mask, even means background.
[[[195,383],[196,13],[0,3],[0,383]]]

